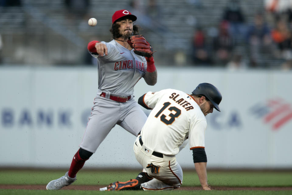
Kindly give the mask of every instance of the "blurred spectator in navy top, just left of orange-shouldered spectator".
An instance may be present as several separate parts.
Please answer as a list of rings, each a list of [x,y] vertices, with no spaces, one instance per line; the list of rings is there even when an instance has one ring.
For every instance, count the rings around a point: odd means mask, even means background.
[[[251,66],[259,65],[262,53],[274,53],[274,45],[270,33],[270,28],[264,21],[263,15],[257,13],[247,31]]]

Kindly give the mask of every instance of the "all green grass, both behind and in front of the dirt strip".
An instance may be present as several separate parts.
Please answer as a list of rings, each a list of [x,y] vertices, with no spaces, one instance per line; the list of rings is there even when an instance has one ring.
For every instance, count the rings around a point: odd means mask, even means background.
[[[49,181],[57,179],[65,174],[66,170],[6,170],[0,169],[0,184],[20,184],[20,185],[46,185]],[[136,178],[140,170],[116,171],[116,170],[88,170],[83,169],[78,172],[77,180],[72,185],[101,185],[107,186],[114,181],[127,181]],[[200,186],[196,172],[183,171],[184,178],[182,186]],[[234,187],[291,187],[292,171],[207,171],[208,180],[212,186],[234,186]],[[0,195],[96,195],[96,194],[127,194],[127,195],[290,195],[292,191],[258,191],[258,190],[214,190],[214,191],[116,191],[99,192],[90,190],[4,190],[0,189]]]

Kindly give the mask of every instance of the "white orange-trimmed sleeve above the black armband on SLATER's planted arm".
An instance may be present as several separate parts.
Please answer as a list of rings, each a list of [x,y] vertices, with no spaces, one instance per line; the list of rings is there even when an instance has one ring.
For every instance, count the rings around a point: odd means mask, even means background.
[[[206,120],[192,120],[189,129],[189,147],[205,148],[205,132],[207,128]]]

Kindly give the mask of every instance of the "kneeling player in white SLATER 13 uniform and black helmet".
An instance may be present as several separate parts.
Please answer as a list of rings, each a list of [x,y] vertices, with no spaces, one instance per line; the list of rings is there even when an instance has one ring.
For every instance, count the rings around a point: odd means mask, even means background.
[[[200,83],[192,94],[165,89],[148,92],[138,103],[152,109],[141,135],[134,142],[137,161],[143,172],[136,179],[114,182],[103,190],[173,190],[182,184],[182,168],[176,154],[189,142],[193,162],[203,190],[211,190],[207,182],[205,152],[205,116],[220,111],[220,91],[210,83]]]

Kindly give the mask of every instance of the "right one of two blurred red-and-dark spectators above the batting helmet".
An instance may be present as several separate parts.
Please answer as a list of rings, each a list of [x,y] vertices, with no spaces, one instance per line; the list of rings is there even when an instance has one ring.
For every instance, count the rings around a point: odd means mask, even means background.
[[[228,23],[222,22],[219,25],[217,36],[213,38],[214,62],[225,65],[230,60],[233,47],[233,39],[228,32]]]

